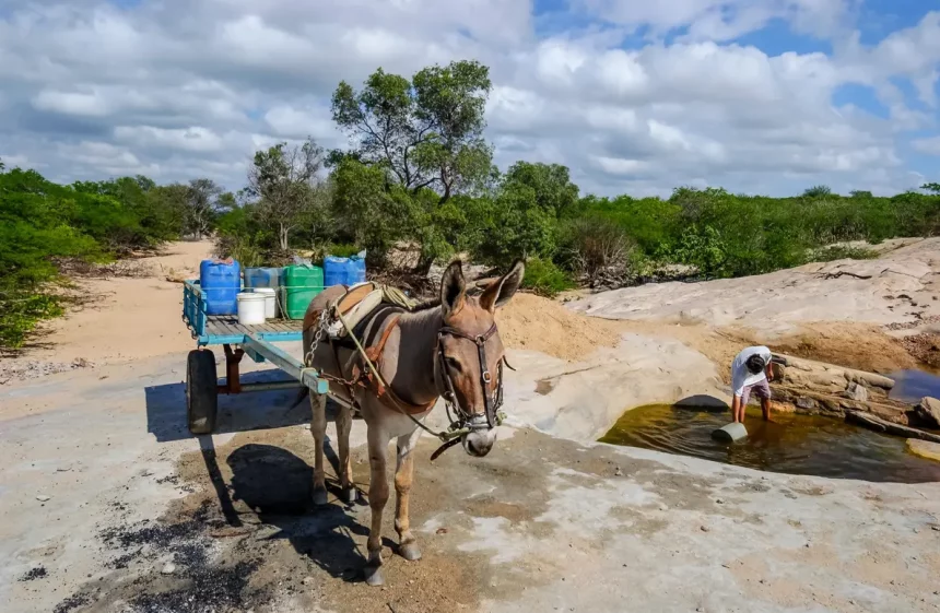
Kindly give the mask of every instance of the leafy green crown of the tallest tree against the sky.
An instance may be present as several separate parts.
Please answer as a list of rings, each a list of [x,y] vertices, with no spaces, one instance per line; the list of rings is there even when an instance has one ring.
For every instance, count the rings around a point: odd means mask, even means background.
[[[493,152],[483,139],[491,87],[490,69],[475,61],[425,68],[410,82],[379,68],[360,92],[341,82],[332,115],[356,160],[386,169],[389,184],[412,194],[434,189],[444,204],[491,172]]]

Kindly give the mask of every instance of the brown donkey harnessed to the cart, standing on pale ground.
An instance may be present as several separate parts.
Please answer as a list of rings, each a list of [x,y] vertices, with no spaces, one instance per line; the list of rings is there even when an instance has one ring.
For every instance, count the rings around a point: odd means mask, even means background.
[[[389,496],[386,461],[391,439],[397,440],[398,451],[395,469],[395,530],[399,537],[399,553],[408,561],[421,558],[408,514],[414,474],[413,451],[422,432],[416,422],[423,421],[437,399],[445,396],[457,410],[458,419],[453,425],[469,431],[460,437],[467,453],[483,457],[496,441],[494,404],[497,399],[502,400],[501,362],[504,359],[504,349],[494,314],[513,298],[524,274],[525,264],[517,261],[509,272],[485,286],[482,293],[470,296],[467,294],[462,264],[458,260],[444,273],[439,303],[434,302],[404,313],[395,307],[380,307],[369,315],[365,322],[357,326],[361,331],[356,330],[356,335],[363,346],[378,347],[373,349],[378,354],[371,358],[389,388],[385,390],[387,393],[380,394],[381,398],[373,389],[353,385],[355,373],[364,367],[354,349],[342,345],[332,347],[325,339],[315,342],[320,334],[316,322],[328,304],[342,294],[342,287],[326,290],[314,298],[307,309],[304,318],[304,355],[307,356],[307,366],[317,368],[330,380],[328,394],[340,405],[336,420],[339,478],[341,497],[348,503],[356,497],[349,448],[353,406],[359,408],[367,428],[372,526],[364,574],[371,586],[385,582],[381,573],[381,517]],[[381,339],[378,345],[377,339]],[[316,505],[327,503],[324,474],[326,401],[326,394],[310,392]]]

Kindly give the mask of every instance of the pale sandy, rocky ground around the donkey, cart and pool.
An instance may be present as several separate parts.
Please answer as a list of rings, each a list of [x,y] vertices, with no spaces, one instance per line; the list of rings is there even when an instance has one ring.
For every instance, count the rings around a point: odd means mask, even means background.
[[[913,249],[931,267],[918,245],[886,257]],[[207,247],[177,245],[157,262],[195,269]],[[908,291],[932,307],[921,276]],[[114,279],[93,291],[108,292],[102,308],[54,323],[56,346],[21,358],[93,365],[0,386],[4,612],[940,610],[940,484],[792,478],[591,443],[626,408],[722,398],[719,366],[741,346],[736,334],[754,333],[750,320],[603,321],[520,296],[500,316],[518,368],[501,441],[487,458],[451,450],[434,464],[422,443],[412,521],[424,559],[391,555],[387,514],[388,586],[371,589],[357,571],[367,506],[307,504],[309,409],[292,410],[292,391],[223,397],[218,433],[191,437],[180,286]],[[843,305],[866,303],[838,292]],[[907,321],[880,308],[860,310],[883,317],[870,330]],[[839,354],[847,331],[872,338],[854,322],[812,325],[815,334],[788,323],[776,338],[810,334],[797,344]],[[361,486],[364,437],[356,422]]]

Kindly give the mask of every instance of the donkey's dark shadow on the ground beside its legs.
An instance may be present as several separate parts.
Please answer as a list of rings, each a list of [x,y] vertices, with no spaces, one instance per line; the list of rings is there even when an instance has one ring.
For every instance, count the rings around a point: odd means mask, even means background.
[[[324,447],[336,471],[339,459],[328,443]],[[367,505],[314,506],[313,468],[280,447],[248,444],[235,449],[226,462],[233,473],[232,502],[250,507],[262,523],[279,528],[271,539],[287,539],[298,554],[309,556],[332,577],[362,579],[368,528],[360,519],[368,521]],[[339,493],[338,485],[328,483],[328,487],[333,496]],[[385,544],[391,543],[385,539]]]

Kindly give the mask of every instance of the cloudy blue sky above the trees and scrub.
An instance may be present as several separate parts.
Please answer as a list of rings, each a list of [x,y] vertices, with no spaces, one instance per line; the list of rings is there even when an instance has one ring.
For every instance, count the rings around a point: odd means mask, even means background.
[[[459,59],[497,165],[583,193],[940,181],[937,0],[0,0],[0,160],[237,190],[257,149],[346,145],[340,80]]]

